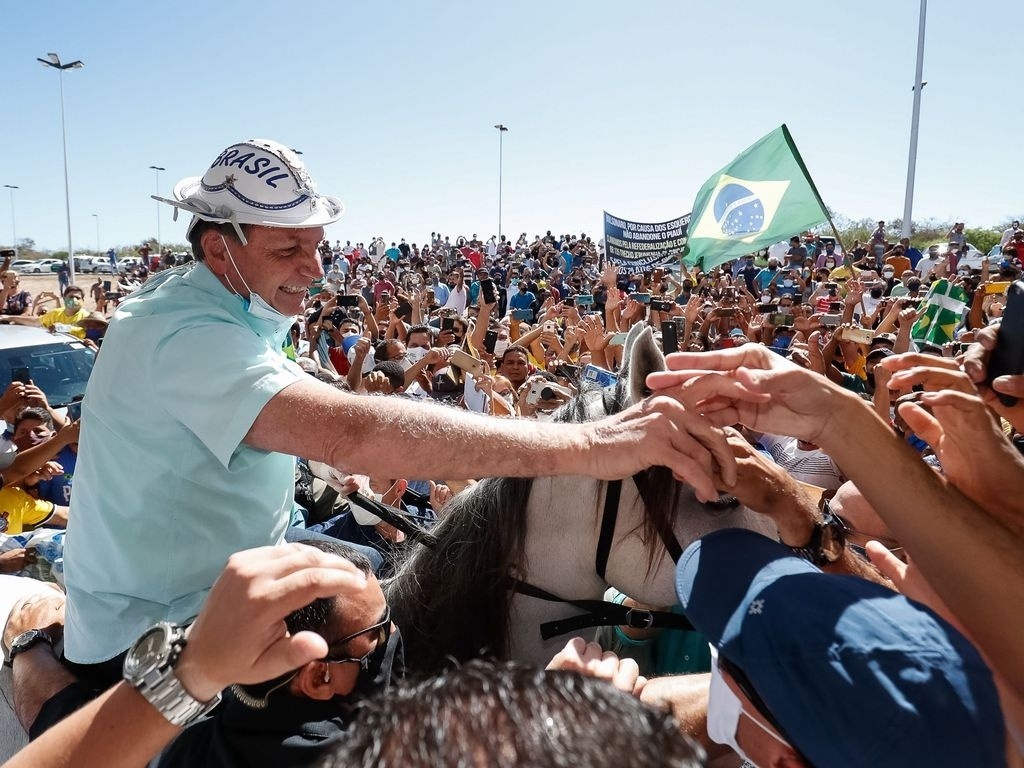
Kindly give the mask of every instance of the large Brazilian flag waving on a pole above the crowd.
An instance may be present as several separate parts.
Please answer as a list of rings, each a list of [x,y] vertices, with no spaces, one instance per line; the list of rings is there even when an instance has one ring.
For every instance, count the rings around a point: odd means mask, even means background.
[[[790,129],[779,126],[697,193],[686,261],[710,269],[828,218]]]

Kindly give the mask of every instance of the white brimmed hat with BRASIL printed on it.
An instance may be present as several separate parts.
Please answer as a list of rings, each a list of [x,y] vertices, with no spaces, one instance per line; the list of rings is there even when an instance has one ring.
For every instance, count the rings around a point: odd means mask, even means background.
[[[176,183],[173,197],[153,199],[174,206],[175,219],[179,209],[193,214],[186,237],[201,220],[230,223],[243,245],[240,224],[323,226],[337,221],[345,210],[337,198],[316,191],[298,155],[263,138],[231,144],[202,177]]]

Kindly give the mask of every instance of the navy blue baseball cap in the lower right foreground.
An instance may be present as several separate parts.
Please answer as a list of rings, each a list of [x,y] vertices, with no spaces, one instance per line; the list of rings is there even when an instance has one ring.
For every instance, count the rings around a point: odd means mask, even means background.
[[[740,529],[691,544],[676,590],[813,765],[1005,765],[991,673],[920,603]]]

